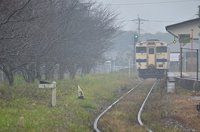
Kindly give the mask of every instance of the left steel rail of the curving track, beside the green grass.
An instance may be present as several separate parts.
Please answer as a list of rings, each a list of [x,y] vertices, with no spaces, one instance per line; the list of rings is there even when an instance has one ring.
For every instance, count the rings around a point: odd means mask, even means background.
[[[119,102],[124,96],[126,96],[127,94],[129,94],[131,91],[133,91],[133,89],[135,89],[136,87],[138,87],[140,84],[142,84],[144,81],[140,82],[137,86],[135,86],[134,88],[132,88],[131,90],[129,90],[126,94],[124,94],[122,97],[120,97],[118,100],[116,100],[113,104],[111,104],[106,110],[104,110],[94,121],[94,130],[96,132],[100,132],[100,130],[97,128],[97,123],[98,120],[101,118],[101,116],[103,114],[105,114],[110,108],[112,108],[117,102]]]

